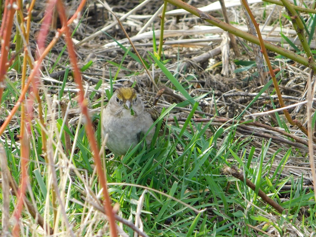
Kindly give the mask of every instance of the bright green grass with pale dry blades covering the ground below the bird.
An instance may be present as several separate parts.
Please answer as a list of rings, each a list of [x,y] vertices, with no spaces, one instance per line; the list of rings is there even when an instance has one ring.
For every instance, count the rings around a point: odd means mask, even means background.
[[[4,98],[15,98],[16,95],[9,96],[14,91],[7,88],[4,94],[8,96]],[[94,100],[94,98],[90,99]],[[52,104],[47,107],[50,106]],[[55,109],[58,111],[58,106]],[[45,115],[48,114],[49,112]],[[188,117],[192,116],[188,115]],[[99,141],[101,124],[98,113],[94,115],[94,119],[97,122],[95,135]],[[51,139],[48,152],[56,154],[54,155],[56,166],[50,170],[39,155],[41,154],[40,137],[43,134],[38,125],[32,125],[31,141],[33,142],[29,162],[31,193],[27,196],[34,198],[37,209],[42,216],[46,216],[46,220],[52,226],[50,176],[51,172],[56,172],[56,181],[64,200],[64,204],[58,203],[58,206],[64,206],[74,232],[79,235],[95,234],[103,228],[106,221],[100,218],[103,214],[91,206],[91,202],[100,203],[101,196],[97,195],[100,192],[100,185],[91,168],[93,160],[84,126],[73,125],[70,131],[63,126],[61,118],[55,122],[54,119],[52,122],[49,122],[49,119],[45,120],[48,138]],[[291,150],[274,169],[274,174],[267,175],[273,173],[271,164],[279,151],[267,154],[271,141],[264,141],[261,155],[254,155],[255,147],[251,145],[251,140],[238,139],[234,128],[235,125],[223,129],[212,125],[212,121],[196,123],[187,119],[184,123],[174,123],[171,126],[172,134],[167,138],[158,137],[156,144],[150,149],[140,150],[138,146],[123,160],[119,157],[110,159],[112,155],[104,157],[108,182],[119,183],[109,186],[112,202],[119,207],[118,214],[134,223],[137,206],[141,205],[141,222],[144,232],[149,236],[254,236],[258,233],[247,225],[259,224],[265,224],[264,228],[267,231],[274,228],[276,233],[283,235],[286,232],[284,226],[296,228],[301,233],[305,231],[304,226],[305,228],[309,225],[314,226],[311,224],[314,223],[312,209],[307,209],[311,212],[310,216],[302,216],[300,212],[302,208],[314,205],[313,193],[307,194],[306,190],[302,189],[302,181],[295,183],[293,177],[280,177]],[[64,130],[70,135],[75,147],[70,160],[63,154]],[[210,130],[214,131],[213,135],[207,133]],[[18,127],[15,132],[19,133]],[[11,173],[16,181],[19,181],[19,149],[13,133],[7,134],[3,145]],[[264,161],[268,162],[264,163]],[[67,165],[69,162],[72,164]],[[244,176],[256,185],[256,191],[250,190],[244,182],[224,175],[222,169],[227,165],[238,166]],[[77,175],[70,172],[69,168],[76,171]],[[289,181],[294,184],[292,191],[278,191],[278,186]],[[152,190],[144,192],[145,187],[160,192]],[[270,193],[271,197],[289,214],[281,216],[263,203],[257,195],[259,188]],[[161,192],[177,200],[170,199]],[[281,201],[279,195],[285,194],[289,196],[289,200]],[[139,203],[142,195],[143,202]],[[14,208],[14,199],[11,199],[11,209]],[[87,199],[89,201],[85,201]],[[178,200],[204,211],[197,214]],[[22,220],[24,225],[33,223],[27,221],[29,218],[28,212],[24,211]],[[304,221],[301,221],[302,218]],[[63,229],[63,220],[57,223],[60,231]],[[301,225],[293,224],[297,221],[300,221]],[[90,226],[91,223],[93,228]],[[133,233],[127,226],[123,225],[123,229],[130,235]]]

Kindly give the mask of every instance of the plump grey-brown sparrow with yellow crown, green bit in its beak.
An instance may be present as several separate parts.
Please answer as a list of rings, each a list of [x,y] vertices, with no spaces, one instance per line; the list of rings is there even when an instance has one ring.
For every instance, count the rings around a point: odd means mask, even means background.
[[[108,134],[107,148],[117,155],[125,155],[134,148],[147,133],[159,113],[153,104],[136,93],[134,88],[118,88],[103,110],[103,128]],[[162,122],[159,135],[163,135],[165,122]],[[166,128],[166,132],[168,129]],[[146,136],[150,146],[155,129]]]

